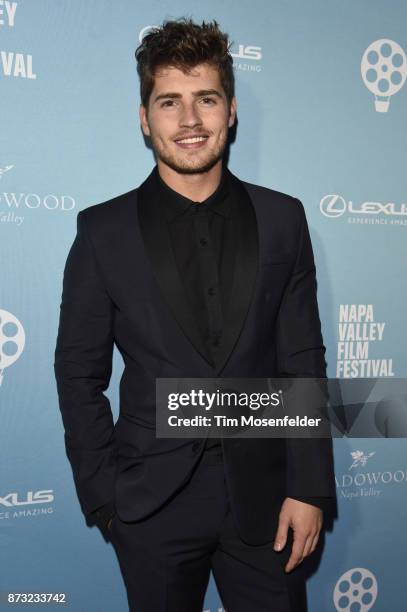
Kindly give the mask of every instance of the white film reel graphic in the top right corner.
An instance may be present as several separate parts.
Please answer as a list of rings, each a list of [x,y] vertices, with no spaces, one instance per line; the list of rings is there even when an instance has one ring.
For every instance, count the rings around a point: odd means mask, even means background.
[[[362,79],[375,96],[375,109],[387,113],[390,97],[404,85],[407,58],[399,44],[388,38],[375,40],[363,54],[360,65]]]

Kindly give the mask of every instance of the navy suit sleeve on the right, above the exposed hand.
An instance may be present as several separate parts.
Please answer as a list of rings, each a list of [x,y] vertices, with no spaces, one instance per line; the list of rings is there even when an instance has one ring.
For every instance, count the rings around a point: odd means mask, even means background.
[[[277,317],[279,376],[326,378],[314,255],[304,207],[296,202],[298,250]],[[336,496],[331,438],[286,438],[286,448],[287,497]]]

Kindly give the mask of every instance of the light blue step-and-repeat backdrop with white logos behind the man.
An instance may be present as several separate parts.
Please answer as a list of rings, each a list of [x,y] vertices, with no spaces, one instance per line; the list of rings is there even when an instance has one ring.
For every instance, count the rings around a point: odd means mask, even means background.
[[[124,611],[127,600],[64,450],[53,373],[62,273],[78,211],[152,168],[134,50],[183,15],[216,19],[233,41],[229,167],[304,203],[329,376],[407,377],[405,0],[0,0],[0,591],[65,592],[75,611]],[[115,353],[115,418],[121,371]],[[402,612],[405,439],[334,447],[338,517],[310,610]],[[205,610],[222,610],[212,577]]]

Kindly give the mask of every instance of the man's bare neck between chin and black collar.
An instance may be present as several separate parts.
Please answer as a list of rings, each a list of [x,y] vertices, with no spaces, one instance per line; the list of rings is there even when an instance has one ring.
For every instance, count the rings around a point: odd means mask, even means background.
[[[160,177],[171,189],[194,202],[209,198],[216,191],[222,176],[221,159],[207,172],[196,174],[181,174],[160,160],[157,160],[157,166]]]

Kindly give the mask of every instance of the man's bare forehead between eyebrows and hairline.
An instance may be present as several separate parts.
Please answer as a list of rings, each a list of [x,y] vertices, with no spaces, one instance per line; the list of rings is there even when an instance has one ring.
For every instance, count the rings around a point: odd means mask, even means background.
[[[185,89],[190,87],[221,87],[219,71],[214,66],[209,64],[198,64],[191,68],[188,72],[183,72],[175,66],[160,66],[154,73],[154,91],[158,92],[162,89],[167,89],[171,86],[172,89],[177,87]]]

